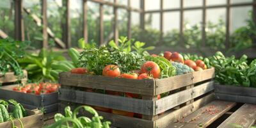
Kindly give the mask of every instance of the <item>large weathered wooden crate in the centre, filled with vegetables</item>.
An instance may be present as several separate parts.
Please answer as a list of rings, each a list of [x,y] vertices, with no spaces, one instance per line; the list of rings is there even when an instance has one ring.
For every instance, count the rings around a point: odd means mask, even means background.
[[[59,99],[63,102],[59,111],[62,112],[65,106],[70,105],[68,103],[73,103],[74,106],[88,104],[142,114],[141,119],[99,111],[100,115],[116,127],[168,127],[172,121],[188,115],[214,99],[212,78],[214,68],[164,79],[143,80],[61,72]],[[140,94],[142,99],[85,92],[83,88],[136,93]],[[161,99],[156,98],[166,92],[171,94]],[[163,112],[164,114],[159,115]]]

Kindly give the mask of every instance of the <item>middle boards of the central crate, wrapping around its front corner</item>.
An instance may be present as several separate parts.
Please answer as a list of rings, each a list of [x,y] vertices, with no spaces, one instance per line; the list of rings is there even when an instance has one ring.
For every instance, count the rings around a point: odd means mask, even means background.
[[[130,111],[143,115],[157,115],[212,90],[214,90],[213,81],[210,81],[188,90],[168,95],[162,99],[144,100],[60,88],[59,100]]]

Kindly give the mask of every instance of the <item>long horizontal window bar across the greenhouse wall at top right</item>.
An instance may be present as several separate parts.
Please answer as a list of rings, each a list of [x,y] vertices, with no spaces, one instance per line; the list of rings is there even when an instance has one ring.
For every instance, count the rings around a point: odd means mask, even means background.
[[[230,4],[230,7],[239,7],[239,6],[252,6],[255,5],[256,3],[236,3],[236,4]],[[211,8],[227,8],[227,4],[218,4],[218,5],[209,5],[206,6],[206,9],[211,9]],[[188,10],[202,10],[203,6],[192,6],[192,7],[184,7],[184,8],[172,8],[172,9],[165,9],[163,12],[177,12],[180,10],[188,11]],[[149,10],[145,11],[145,13],[159,13],[160,10]]]

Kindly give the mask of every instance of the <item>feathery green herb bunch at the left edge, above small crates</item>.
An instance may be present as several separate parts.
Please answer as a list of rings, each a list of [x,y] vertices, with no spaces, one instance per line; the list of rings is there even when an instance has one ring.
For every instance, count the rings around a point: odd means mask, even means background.
[[[0,74],[4,76],[6,72],[14,72],[18,78],[23,77],[22,68],[20,68],[17,59],[23,58],[25,49],[30,42],[20,42],[12,38],[0,40]]]

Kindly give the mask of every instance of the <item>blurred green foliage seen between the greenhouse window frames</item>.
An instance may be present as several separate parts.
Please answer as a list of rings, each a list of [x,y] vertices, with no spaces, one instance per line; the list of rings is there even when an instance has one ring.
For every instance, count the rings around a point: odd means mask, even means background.
[[[82,1],[76,1],[76,8],[71,9],[71,40],[72,46],[77,47],[77,40],[83,37],[83,12]],[[12,0],[1,1],[0,6],[0,29],[2,29],[9,36],[14,36],[14,10]],[[8,6],[4,6],[8,4]],[[88,9],[88,42],[99,42],[99,4],[88,2],[90,4]],[[54,35],[62,38],[62,25],[65,22],[65,6],[60,0],[47,1],[47,19],[48,26],[52,29]],[[41,3],[40,0],[34,0],[33,3],[29,0],[24,0],[24,7],[31,10],[32,13],[41,17]],[[104,6],[104,40],[105,44],[109,40],[113,40],[113,7]],[[134,40],[140,42],[147,42],[147,45],[159,44],[159,29],[152,28],[152,17],[145,20],[145,30],[140,29],[138,24],[132,24],[131,35]],[[36,26],[31,15],[24,12],[24,26],[26,40],[30,40],[32,46],[36,49],[42,47],[42,27]],[[118,10],[118,31],[119,36],[127,36],[127,11]],[[223,50],[226,40],[225,22],[220,18],[218,22],[207,22],[205,26],[206,31],[206,47],[213,50]],[[184,23],[184,40],[180,40],[179,29],[170,29],[163,35],[161,45],[168,47],[184,47],[186,49],[198,49],[202,47],[202,24],[189,24],[189,21]],[[227,49],[230,51],[241,51],[248,47],[252,47],[253,40],[256,38],[256,25],[252,19],[252,12],[248,12],[248,19],[246,25],[237,28],[230,34],[230,45]],[[54,41],[49,38],[49,44],[54,47]]]

